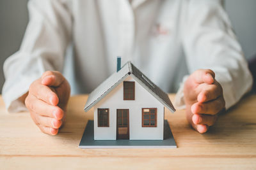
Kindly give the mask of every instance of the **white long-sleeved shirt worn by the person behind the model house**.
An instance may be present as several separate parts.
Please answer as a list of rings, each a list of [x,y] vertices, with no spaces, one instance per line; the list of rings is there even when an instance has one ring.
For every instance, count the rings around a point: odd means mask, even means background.
[[[226,108],[252,86],[220,1],[31,0],[28,7],[20,50],[4,62],[3,99],[10,112],[25,109],[17,99],[44,71],[63,71],[72,94],[88,93],[116,71],[118,55],[166,92],[177,92],[196,69],[212,69]],[[72,62],[65,60],[70,44]],[[182,90],[181,84],[178,106],[184,105]]]

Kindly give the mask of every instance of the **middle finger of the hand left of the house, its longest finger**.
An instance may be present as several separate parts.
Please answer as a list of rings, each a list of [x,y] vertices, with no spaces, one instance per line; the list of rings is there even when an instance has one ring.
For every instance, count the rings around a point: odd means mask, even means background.
[[[61,108],[59,108],[58,106],[52,106],[50,104],[47,104],[44,101],[37,99],[33,95],[29,95],[26,98],[25,104],[29,110],[34,111],[35,113],[41,116],[61,120],[61,118],[63,118],[64,115],[63,110],[61,110]]]

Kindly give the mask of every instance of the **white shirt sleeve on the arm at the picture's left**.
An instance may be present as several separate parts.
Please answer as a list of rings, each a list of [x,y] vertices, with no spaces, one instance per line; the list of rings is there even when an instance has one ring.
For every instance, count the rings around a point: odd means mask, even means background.
[[[18,99],[47,70],[62,71],[72,16],[64,1],[31,0],[20,50],[4,62],[3,99],[9,112],[26,110]]]

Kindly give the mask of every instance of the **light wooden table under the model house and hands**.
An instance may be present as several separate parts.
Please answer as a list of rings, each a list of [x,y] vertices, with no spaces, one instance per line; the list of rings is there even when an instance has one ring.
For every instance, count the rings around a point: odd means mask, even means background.
[[[173,99],[173,95],[170,95]],[[166,110],[178,148],[78,148],[92,110],[87,96],[68,103],[67,124],[57,136],[39,131],[29,113],[9,114],[0,98],[0,169],[256,169],[256,96],[221,115],[206,134],[193,131],[184,110]]]

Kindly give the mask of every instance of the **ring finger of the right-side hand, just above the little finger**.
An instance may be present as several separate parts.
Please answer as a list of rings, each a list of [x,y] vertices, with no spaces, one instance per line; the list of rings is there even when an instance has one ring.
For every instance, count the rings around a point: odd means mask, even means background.
[[[198,115],[195,114],[192,117],[193,123],[196,125],[214,125],[217,120],[217,115]]]

